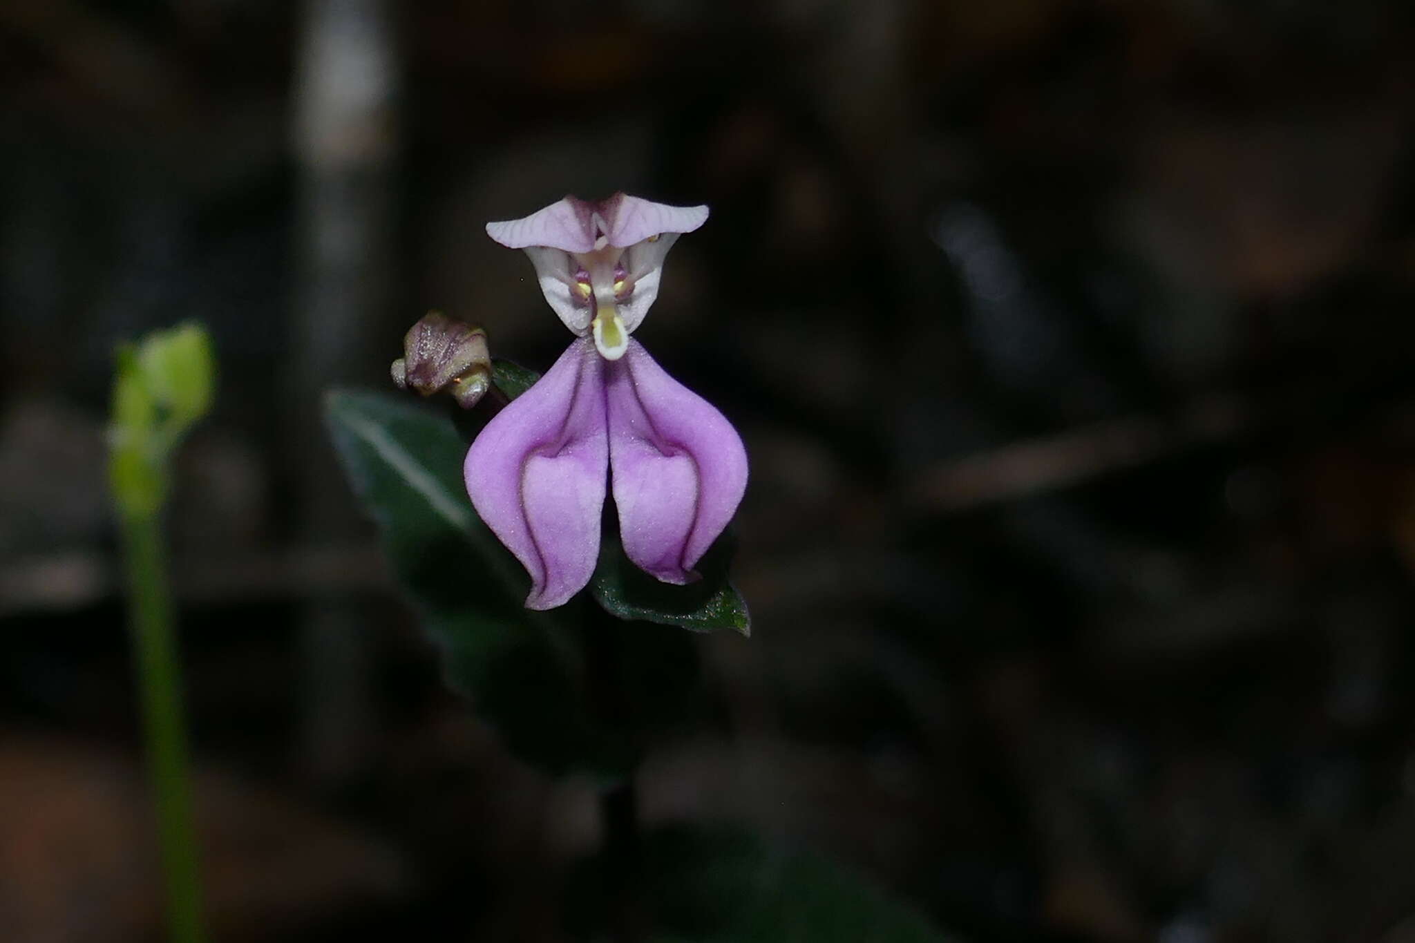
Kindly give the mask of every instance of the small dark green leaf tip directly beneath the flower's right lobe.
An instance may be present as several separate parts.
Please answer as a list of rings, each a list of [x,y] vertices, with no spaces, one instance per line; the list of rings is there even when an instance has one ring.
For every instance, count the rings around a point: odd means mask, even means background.
[[[692,632],[734,629],[751,635],[751,616],[741,594],[727,581],[730,547],[720,539],[698,566],[702,580],[676,587],[635,567],[620,541],[604,534],[590,592],[620,619],[675,625]]]

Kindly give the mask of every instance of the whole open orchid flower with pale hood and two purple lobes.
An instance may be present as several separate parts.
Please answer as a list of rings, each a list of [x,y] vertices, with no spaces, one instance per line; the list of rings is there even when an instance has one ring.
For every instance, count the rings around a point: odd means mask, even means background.
[[[574,197],[487,235],[531,256],[541,291],[576,335],[467,451],[467,493],[531,574],[526,607],[565,604],[599,560],[613,481],[624,553],[685,584],[737,510],[747,452],[732,423],[668,376],[630,335],[658,297],[664,257],[708,219],[616,194]]]

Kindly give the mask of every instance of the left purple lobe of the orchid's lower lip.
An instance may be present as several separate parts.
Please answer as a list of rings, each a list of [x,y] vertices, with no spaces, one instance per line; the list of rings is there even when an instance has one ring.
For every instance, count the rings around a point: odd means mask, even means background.
[[[467,451],[467,493],[531,574],[528,608],[562,605],[590,581],[607,458],[604,361],[583,338]]]

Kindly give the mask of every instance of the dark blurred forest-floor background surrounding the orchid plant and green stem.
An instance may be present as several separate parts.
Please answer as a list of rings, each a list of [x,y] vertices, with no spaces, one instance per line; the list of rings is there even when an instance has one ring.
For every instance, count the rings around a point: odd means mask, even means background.
[[[197,318],[214,936],[563,939],[594,790],[444,690],[318,397],[429,308],[548,368],[483,223],[625,189],[712,206],[637,336],[753,462],[754,633],[695,638],[648,821],[958,940],[1415,940],[1412,48],[1402,0],[0,4],[4,937],[158,939],[103,424]]]

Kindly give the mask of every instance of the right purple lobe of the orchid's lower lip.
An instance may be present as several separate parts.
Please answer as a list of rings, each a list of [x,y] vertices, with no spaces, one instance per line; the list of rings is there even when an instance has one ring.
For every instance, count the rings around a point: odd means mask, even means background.
[[[610,467],[624,553],[664,582],[688,582],[737,510],[747,452],[732,423],[630,339],[607,365]]]

